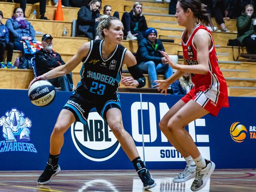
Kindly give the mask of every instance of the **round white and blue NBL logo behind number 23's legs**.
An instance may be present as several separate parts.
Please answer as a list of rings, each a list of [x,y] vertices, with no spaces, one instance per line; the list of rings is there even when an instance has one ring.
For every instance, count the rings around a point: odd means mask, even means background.
[[[74,122],[71,135],[76,149],[92,161],[106,161],[113,157],[120,144],[97,112],[89,113],[87,124]]]

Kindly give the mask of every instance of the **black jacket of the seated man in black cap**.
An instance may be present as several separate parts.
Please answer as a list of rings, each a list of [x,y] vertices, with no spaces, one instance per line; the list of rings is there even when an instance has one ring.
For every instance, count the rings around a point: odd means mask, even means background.
[[[35,74],[40,76],[59,65],[65,65],[60,54],[56,52],[48,53],[41,49],[35,54]]]

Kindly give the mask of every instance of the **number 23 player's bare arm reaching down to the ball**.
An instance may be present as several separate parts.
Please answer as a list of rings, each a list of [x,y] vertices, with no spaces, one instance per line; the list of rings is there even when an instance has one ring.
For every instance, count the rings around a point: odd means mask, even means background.
[[[30,82],[30,85],[28,86],[28,89],[30,86],[37,80],[46,80],[46,79],[52,79],[52,78],[57,78],[59,76],[63,76],[65,74],[70,73],[76,66],[81,63],[82,59],[87,56],[89,49],[90,49],[91,42],[87,42],[83,44],[78,52],[67,62],[66,65],[60,65],[47,73],[38,76],[37,78],[33,79]]]

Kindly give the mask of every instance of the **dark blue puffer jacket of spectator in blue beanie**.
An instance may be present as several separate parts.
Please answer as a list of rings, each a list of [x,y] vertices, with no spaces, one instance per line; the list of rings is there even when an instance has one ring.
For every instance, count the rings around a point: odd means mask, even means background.
[[[156,65],[161,63],[161,58],[163,57],[163,55],[159,51],[160,50],[165,51],[165,49],[161,41],[156,39],[155,42],[156,42],[156,50],[154,49],[154,47],[152,46],[152,44],[147,38],[144,38],[141,40],[141,42],[139,42],[139,47],[136,53],[136,59],[137,59],[138,65],[141,62],[147,62],[147,61],[154,61]]]

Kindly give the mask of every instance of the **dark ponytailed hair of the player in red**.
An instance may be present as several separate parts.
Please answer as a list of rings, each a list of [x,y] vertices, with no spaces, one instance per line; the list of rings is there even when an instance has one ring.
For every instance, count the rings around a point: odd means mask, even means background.
[[[205,25],[210,25],[213,29],[213,23],[211,22],[211,17],[207,13],[206,9],[202,9],[200,0],[178,0],[180,6],[186,12],[187,9],[191,9],[195,17]]]

